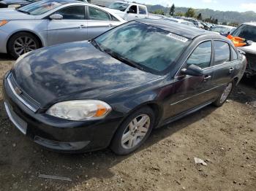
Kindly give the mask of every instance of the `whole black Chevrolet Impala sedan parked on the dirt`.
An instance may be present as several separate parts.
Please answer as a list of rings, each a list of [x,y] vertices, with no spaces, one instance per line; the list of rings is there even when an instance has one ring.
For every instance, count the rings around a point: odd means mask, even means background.
[[[126,155],[153,128],[222,106],[245,68],[224,36],[136,20],[89,42],[21,56],[4,77],[4,104],[13,124],[43,147]]]

